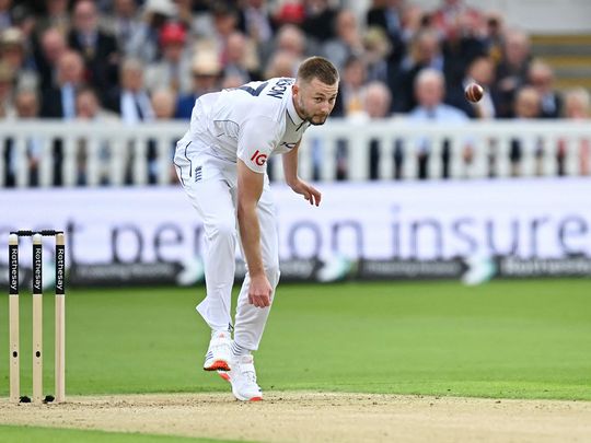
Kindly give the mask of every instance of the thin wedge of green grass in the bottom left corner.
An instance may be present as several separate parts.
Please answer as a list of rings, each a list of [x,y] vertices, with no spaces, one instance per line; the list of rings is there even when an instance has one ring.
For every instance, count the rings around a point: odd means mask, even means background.
[[[40,427],[0,425],[0,443],[32,442],[44,443],[232,443],[234,440],[189,439],[183,436],[150,435],[124,432],[104,432]]]

